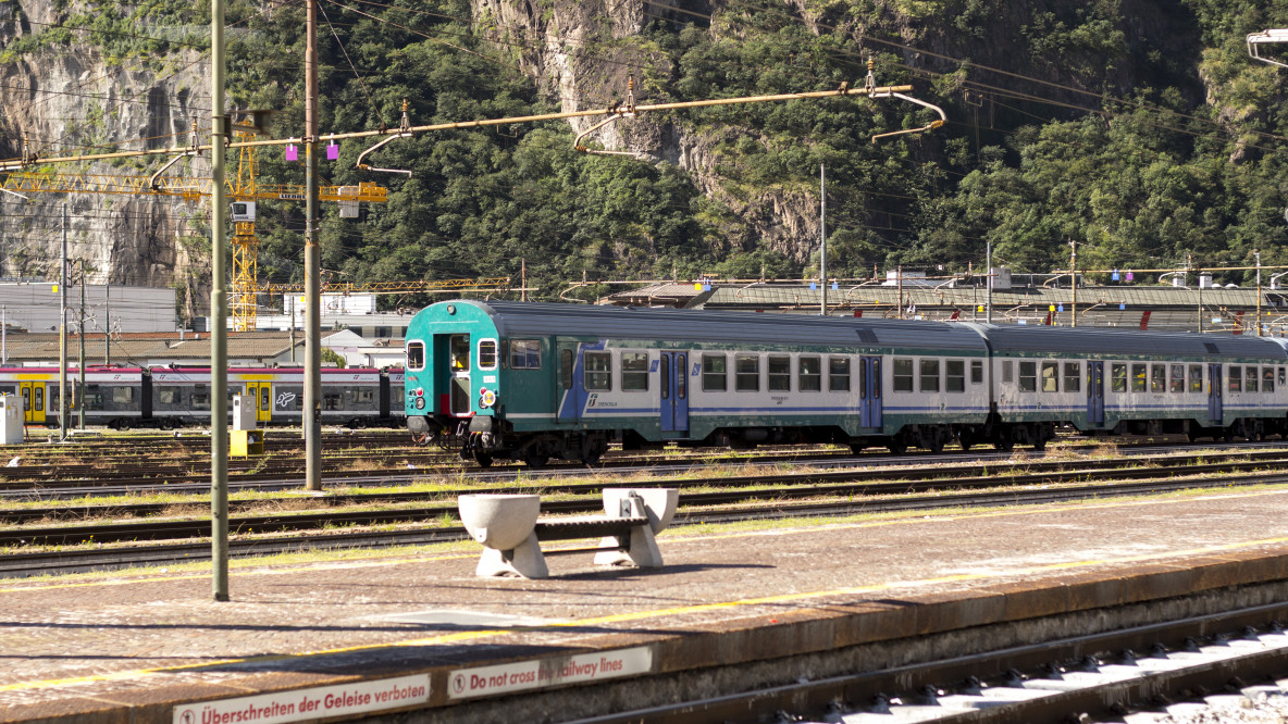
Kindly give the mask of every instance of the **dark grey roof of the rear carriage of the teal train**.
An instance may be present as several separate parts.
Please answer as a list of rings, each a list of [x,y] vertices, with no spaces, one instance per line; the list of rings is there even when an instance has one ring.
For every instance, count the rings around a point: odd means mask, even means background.
[[[1209,359],[1288,359],[1284,344],[1243,335],[1142,332],[1104,327],[1048,327],[976,325],[994,352],[1034,354],[1113,354],[1140,357],[1195,357]],[[1278,340],[1276,340],[1278,341]]]

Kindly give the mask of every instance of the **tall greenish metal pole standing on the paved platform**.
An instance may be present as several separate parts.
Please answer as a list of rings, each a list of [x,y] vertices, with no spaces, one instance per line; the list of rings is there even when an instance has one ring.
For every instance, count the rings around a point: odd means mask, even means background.
[[[224,278],[224,0],[210,0],[210,558],[211,594],[228,600],[228,280]],[[108,331],[111,334],[111,331]]]

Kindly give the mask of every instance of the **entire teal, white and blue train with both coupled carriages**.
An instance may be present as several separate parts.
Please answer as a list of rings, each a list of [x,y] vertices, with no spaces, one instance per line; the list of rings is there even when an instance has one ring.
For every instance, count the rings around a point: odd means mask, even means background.
[[[442,301],[407,330],[406,419],[480,465],[676,442],[859,451],[1288,430],[1288,341],[1114,329]]]

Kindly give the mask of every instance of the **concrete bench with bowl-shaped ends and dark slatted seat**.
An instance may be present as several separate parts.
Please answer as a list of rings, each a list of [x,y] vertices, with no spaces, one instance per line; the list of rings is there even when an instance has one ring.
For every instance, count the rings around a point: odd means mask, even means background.
[[[679,499],[675,488],[604,488],[603,515],[564,518],[538,518],[541,497],[536,495],[462,495],[456,506],[465,529],[483,544],[477,575],[549,578],[541,541],[599,537],[599,548],[550,554],[594,551],[599,566],[659,568],[662,553],[654,536],[671,523]]]

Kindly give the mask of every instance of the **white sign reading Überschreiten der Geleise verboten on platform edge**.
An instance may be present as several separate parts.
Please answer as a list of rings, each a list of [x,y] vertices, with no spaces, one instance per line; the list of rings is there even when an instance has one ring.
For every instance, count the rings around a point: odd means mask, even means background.
[[[348,716],[429,701],[429,675],[224,698],[174,707],[174,724],[276,724]]]

